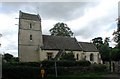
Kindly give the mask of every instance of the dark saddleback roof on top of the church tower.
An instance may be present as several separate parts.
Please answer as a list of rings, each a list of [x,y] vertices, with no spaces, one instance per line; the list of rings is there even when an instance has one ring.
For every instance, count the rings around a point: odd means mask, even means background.
[[[35,15],[35,14],[29,14],[29,13],[24,13],[22,11],[20,11],[20,16],[19,16],[20,19],[27,19],[27,20],[34,20],[34,21],[40,21],[41,18],[38,15]]]

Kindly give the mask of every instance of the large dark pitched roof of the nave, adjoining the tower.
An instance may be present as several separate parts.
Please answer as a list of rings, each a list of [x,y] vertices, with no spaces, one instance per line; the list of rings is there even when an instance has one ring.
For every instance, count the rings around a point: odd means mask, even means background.
[[[71,37],[43,35],[44,50],[81,51],[77,40]]]

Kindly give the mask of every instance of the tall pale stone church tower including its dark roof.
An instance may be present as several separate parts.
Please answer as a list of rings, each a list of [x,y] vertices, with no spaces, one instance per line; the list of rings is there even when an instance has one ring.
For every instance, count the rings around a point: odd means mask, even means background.
[[[42,42],[41,18],[35,14],[19,12],[18,55],[22,62],[40,60]]]

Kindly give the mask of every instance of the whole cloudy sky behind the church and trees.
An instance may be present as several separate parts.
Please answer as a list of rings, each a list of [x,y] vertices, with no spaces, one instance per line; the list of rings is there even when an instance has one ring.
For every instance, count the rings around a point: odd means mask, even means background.
[[[0,53],[18,56],[19,11],[41,16],[42,33],[50,35],[56,23],[64,22],[78,41],[90,42],[93,38],[110,37],[114,47],[113,32],[117,29],[119,0],[72,0],[65,2],[0,2]]]

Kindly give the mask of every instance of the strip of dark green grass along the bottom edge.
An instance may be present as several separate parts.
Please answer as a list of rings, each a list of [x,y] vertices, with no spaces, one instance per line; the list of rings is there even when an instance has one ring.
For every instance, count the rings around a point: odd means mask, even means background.
[[[103,75],[107,75],[109,73],[105,72],[97,72],[97,73],[80,73],[76,75],[64,75],[55,77],[55,75],[48,75],[45,79],[115,79],[109,77],[103,77]]]

